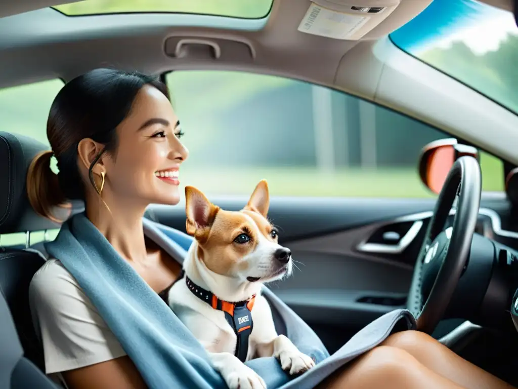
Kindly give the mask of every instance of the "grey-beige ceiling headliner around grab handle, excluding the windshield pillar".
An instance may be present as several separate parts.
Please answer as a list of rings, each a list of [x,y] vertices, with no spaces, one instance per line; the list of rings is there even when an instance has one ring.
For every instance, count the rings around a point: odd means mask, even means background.
[[[401,0],[362,40],[385,36],[418,15],[430,1]],[[0,87],[56,76],[66,80],[99,66],[149,73],[230,66],[333,85],[340,59],[358,43],[298,32],[309,0],[275,0],[269,17],[239,20],[240,29],[227,27],[236,25],[236,19],[217,16],[141,13],[67,17],[48,8],[50,4],[48,0],[9,0],[3,4],[0,15],[33,10],[0,18]],[[171,58],[164,53],[164,41],[174,35],[245,40],[256,55],[253,63],[244,64],[237,58]]]

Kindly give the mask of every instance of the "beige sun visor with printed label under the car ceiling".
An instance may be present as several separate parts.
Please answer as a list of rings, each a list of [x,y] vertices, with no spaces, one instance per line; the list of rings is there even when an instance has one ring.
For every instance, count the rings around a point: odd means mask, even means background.
[[[312,0],[298,31],[358,40],[397,8],[400,0]]]

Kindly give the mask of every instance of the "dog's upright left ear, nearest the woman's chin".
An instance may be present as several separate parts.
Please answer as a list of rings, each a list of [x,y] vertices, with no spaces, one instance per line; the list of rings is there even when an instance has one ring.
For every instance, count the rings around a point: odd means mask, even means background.
[[[205,195],[192,186],[185,187],[185,227],[187,233],[194,237],[204,234],[214,222],[219,207],[212,204]]]

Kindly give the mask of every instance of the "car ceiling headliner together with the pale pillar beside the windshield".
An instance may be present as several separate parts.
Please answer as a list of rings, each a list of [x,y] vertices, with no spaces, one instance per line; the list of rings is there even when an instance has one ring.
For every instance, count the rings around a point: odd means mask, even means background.
[[[485,0],[500,6],[508,1]],[[395,109],[518,164],[513,147],[518,116],[387,38],[431,0],[400,2],[362,40],[351,41],[298,32],[309,0],[274,0],[269,16],[256,20],[174,13],[67,17],[46,0],[4,0],[0,15],[26,12],[0,18],[0,88],[56,77],[67,81],[100,66],[153,74],[183,69],[274,74]],[[171,37],[246,43],[254,55],[248,60],[242,55],[174,58],[165,52]],[[488,121],[495,124],[490,138],[484,125]]]

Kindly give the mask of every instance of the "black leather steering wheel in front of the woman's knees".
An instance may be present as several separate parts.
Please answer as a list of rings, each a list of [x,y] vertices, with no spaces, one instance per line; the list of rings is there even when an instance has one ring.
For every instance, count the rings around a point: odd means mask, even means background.
[[[417,320],[417,329],[431,334],[448,308],[458,280],[467,265],[477,224],[482,179],[478,161],[458,158],[442,186],[415,263],[407,309]],[[444,231],[457,200],[453,228]],[[423,274],[433,263],[442,262],[429,293],[423,290]]]

